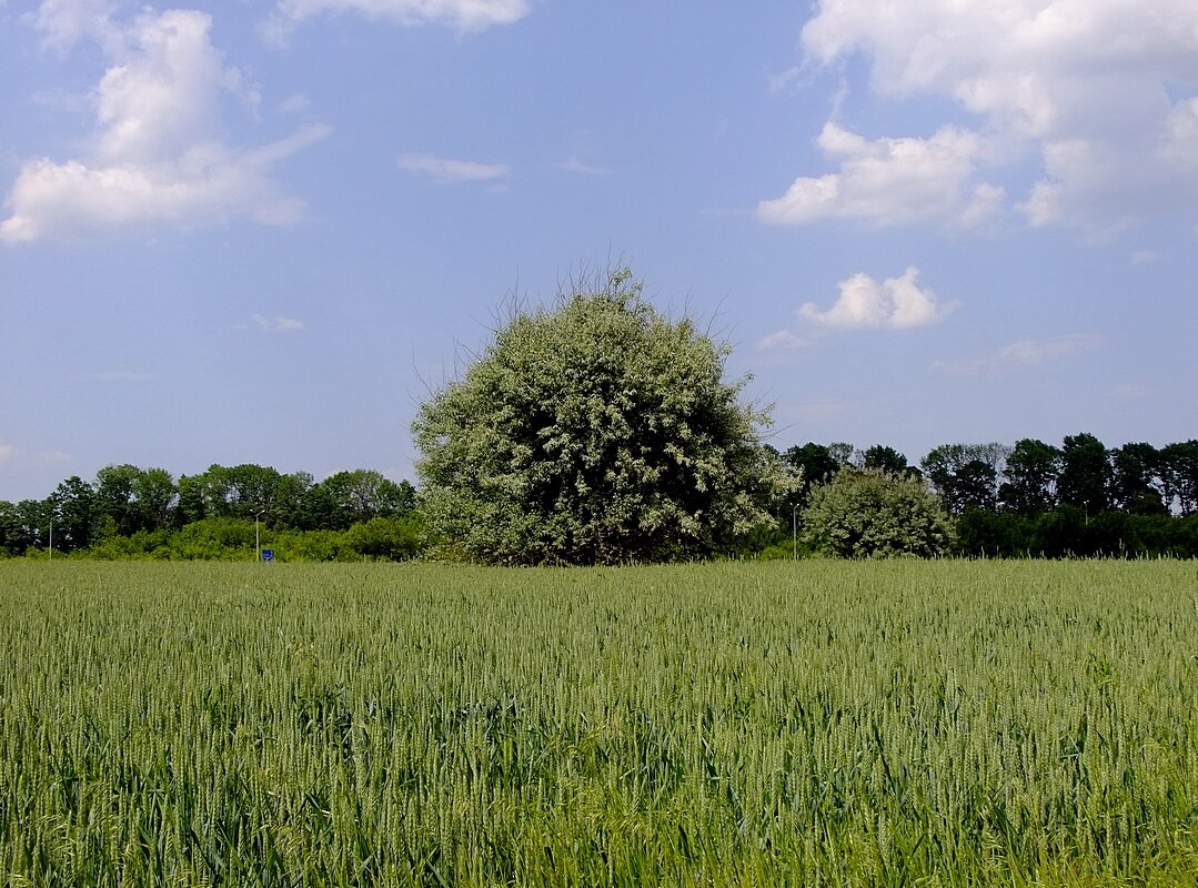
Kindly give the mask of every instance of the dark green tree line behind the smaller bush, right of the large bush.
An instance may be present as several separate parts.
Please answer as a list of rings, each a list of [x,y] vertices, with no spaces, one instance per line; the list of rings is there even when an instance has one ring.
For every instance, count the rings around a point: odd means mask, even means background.
[[[1198,441],[1108,448],[1090,433],[1060,446],[1022,439],[942,445],[918,465],[883,445],[809,442],[778,453],[801,477],[773,513],[792,522],[812,491],[849,470],[916,478],[952,517],[943,551],[964,556],[1198,556]],[[805,527],[804,538],[819,536]],[[795,534],[798,536],[798,534]],[[774,545],[782,540],[775,538]]]

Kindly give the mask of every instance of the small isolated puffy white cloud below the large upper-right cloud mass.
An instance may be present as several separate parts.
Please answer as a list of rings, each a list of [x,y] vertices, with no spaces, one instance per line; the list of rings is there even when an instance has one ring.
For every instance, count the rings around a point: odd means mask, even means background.
[[[907,268],[900,278],[878,282],[869,274],[854,274],[840,282],[840,298],[827,310],[813,302],[799,309],[803,318],[829,327],[869,328],[884,327],[908,330],[939,324],[954,309],[956,302],[940,302],[936,294],[920,289],[915,279],[918,268]]]

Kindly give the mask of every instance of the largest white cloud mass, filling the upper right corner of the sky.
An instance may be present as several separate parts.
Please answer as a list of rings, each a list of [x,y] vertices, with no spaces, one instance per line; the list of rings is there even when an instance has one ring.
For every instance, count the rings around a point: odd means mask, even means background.
[[[763,201],[768,222],[961,224],[1010,195],[1031,225],[1118,229],[1198,197],[1193,0],[821,0],[803,46],[817,65],[864,55],[879,96],[948,98],[978,123],[945,121],[930,139],[821,135],[839,171]],[[940,175],[921,175],[921,156]],[[933,206],[915,211],[915,188]]]

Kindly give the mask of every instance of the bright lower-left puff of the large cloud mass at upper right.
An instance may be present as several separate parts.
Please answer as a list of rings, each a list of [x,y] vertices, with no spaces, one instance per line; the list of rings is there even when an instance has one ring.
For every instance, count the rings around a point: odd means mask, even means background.
[[[829,122],[818,145],[840,162],[840,173],[800,176],[781,198],[763,200],[764,222],[861,219],[878,225],[939,222],[976,225],[1003,204],[1003,189],[975,181],[982,140],[942,127],[928,139],[866,140]]]

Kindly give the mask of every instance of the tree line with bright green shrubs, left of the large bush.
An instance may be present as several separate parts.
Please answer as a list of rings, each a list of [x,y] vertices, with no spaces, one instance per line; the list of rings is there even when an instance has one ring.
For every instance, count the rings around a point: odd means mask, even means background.
[[[255,531],[313,560],[409,557],[426,536],[416,488],[357,469],[316,482],[308,472],[213,465],[176,481],[164,469],[111,465],[71,476],[44,500],[0,501],[0,554],[229,557]]]

